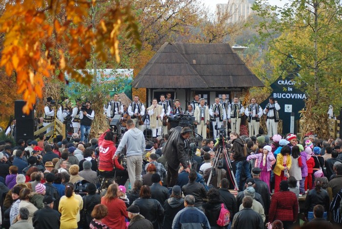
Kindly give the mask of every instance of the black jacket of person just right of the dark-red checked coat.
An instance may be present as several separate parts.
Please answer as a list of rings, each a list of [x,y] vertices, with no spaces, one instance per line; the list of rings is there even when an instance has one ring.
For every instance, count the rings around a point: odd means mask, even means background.
[[[328,211],[330,207],[330,199],[328,192],[321,188],[320,192],[317,192],[316,189],[312,189],[308,192],[305,198],[305,208],[304,213],[305,216],[308,215],[309,211],[314,211],[314,207],[316,205],[321,205],[324,207],[324,211]]]

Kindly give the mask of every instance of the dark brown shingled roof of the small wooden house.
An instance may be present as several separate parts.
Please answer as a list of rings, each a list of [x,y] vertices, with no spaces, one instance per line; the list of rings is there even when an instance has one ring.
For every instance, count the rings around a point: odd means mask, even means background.
[[[227,43],[164,43],[134,88],[220,88],[264,84]]]

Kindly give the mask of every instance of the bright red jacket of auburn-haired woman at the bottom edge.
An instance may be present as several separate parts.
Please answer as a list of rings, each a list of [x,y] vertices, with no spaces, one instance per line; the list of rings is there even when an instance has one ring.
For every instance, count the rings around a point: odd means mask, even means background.
[[[111,229],[125,229],[125,217],[128,218],[125,202],[120,198],[106,201],[106,199],[102,197],[101,204],[106,205],[108,208],[108,214],[102,219],[102,223],[106,224],[108,228]]]

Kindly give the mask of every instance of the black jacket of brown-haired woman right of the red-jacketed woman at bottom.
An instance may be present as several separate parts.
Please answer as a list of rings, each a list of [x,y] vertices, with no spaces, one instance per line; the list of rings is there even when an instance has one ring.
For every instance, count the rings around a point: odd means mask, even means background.
[[[150,220],[154,229],[163,228],[164,208],[157,200],[139,198],[136,199],[132,205],[139,206],[140,214],[143,215],[145,219]]]

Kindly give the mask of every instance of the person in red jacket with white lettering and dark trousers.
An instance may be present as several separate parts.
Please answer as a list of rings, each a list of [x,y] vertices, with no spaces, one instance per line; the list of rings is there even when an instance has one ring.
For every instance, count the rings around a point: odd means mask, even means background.
[[[116,147],[114,133],[110,129],[99,138],[99,172],[105,177],[120,177],[119,185],[124,186],[128,179],[128,171],[120,165],[117,158],[113,158]]]

